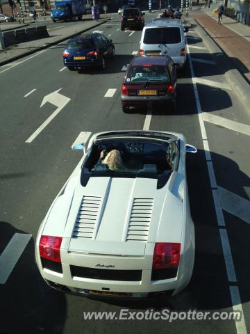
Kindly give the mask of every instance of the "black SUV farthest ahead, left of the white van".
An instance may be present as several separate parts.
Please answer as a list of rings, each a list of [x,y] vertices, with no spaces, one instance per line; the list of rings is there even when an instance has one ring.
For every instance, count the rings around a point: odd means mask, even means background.
[[[121,30],[125,28],[138,28],[142,30],[144,27],[144,15],[139,8],[126,8],[121,17]]]

